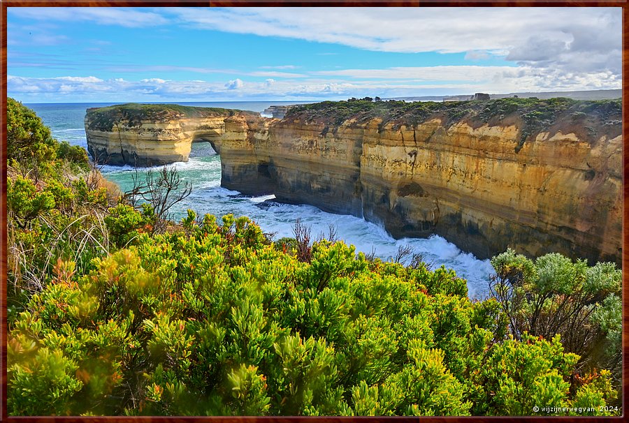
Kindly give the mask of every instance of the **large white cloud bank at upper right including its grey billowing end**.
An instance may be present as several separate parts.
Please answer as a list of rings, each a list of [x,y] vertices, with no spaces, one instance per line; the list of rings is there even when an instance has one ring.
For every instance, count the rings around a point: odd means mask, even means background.
[[[198,29],[621,73],[621,8],[172,8]],[[535,34],[535,36],[531,36]],[[318,53],[327,54],[327,53]]]

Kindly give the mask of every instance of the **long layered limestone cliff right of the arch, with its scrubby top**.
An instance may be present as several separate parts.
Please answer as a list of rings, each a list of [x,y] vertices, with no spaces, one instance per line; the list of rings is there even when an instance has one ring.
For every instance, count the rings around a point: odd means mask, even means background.
[[[213,143],[222,186],[394,237],[621,261],[620,101],[326,102],[282,120],[235,114]]]

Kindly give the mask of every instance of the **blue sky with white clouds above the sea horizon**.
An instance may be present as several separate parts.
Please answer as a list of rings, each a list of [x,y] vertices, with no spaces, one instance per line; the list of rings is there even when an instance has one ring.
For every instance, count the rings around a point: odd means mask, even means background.
[[[621,88],[621,8],[7,9],[24,103]]]

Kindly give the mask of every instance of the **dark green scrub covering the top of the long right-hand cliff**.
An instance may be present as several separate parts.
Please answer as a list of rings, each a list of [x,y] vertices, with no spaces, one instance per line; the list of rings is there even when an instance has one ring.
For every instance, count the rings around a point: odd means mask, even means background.
[[[570,98],[501,98],[491,101],[411,102],[371,101],[324,101],[321,103],[291,106],[284,119],[300,119],[308,123],[323,124],[330,129],[348,119],[358,123],[370,119],[382,119],[379,128],[391,124],[417,126],[429,119],[439,118],[444,126],[465,122],[472,127],[489,124],[517,124],[520,128],[520,146],[530,136],[542,131],[559,131],[578,126],[594,138],[603,128],[612,136],[620,135],[621,100],[578,101]]]

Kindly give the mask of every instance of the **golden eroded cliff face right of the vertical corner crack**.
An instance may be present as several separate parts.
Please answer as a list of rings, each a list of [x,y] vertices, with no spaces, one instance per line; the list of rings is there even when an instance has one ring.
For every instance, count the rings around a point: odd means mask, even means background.
[[[488,258],[512,247],[620,260],[622,138],[519,142],[516,126],[437,121],[363,142],[363,213],[395,237],[442,235]],[[382,142],[384,141],[384,142]]]

